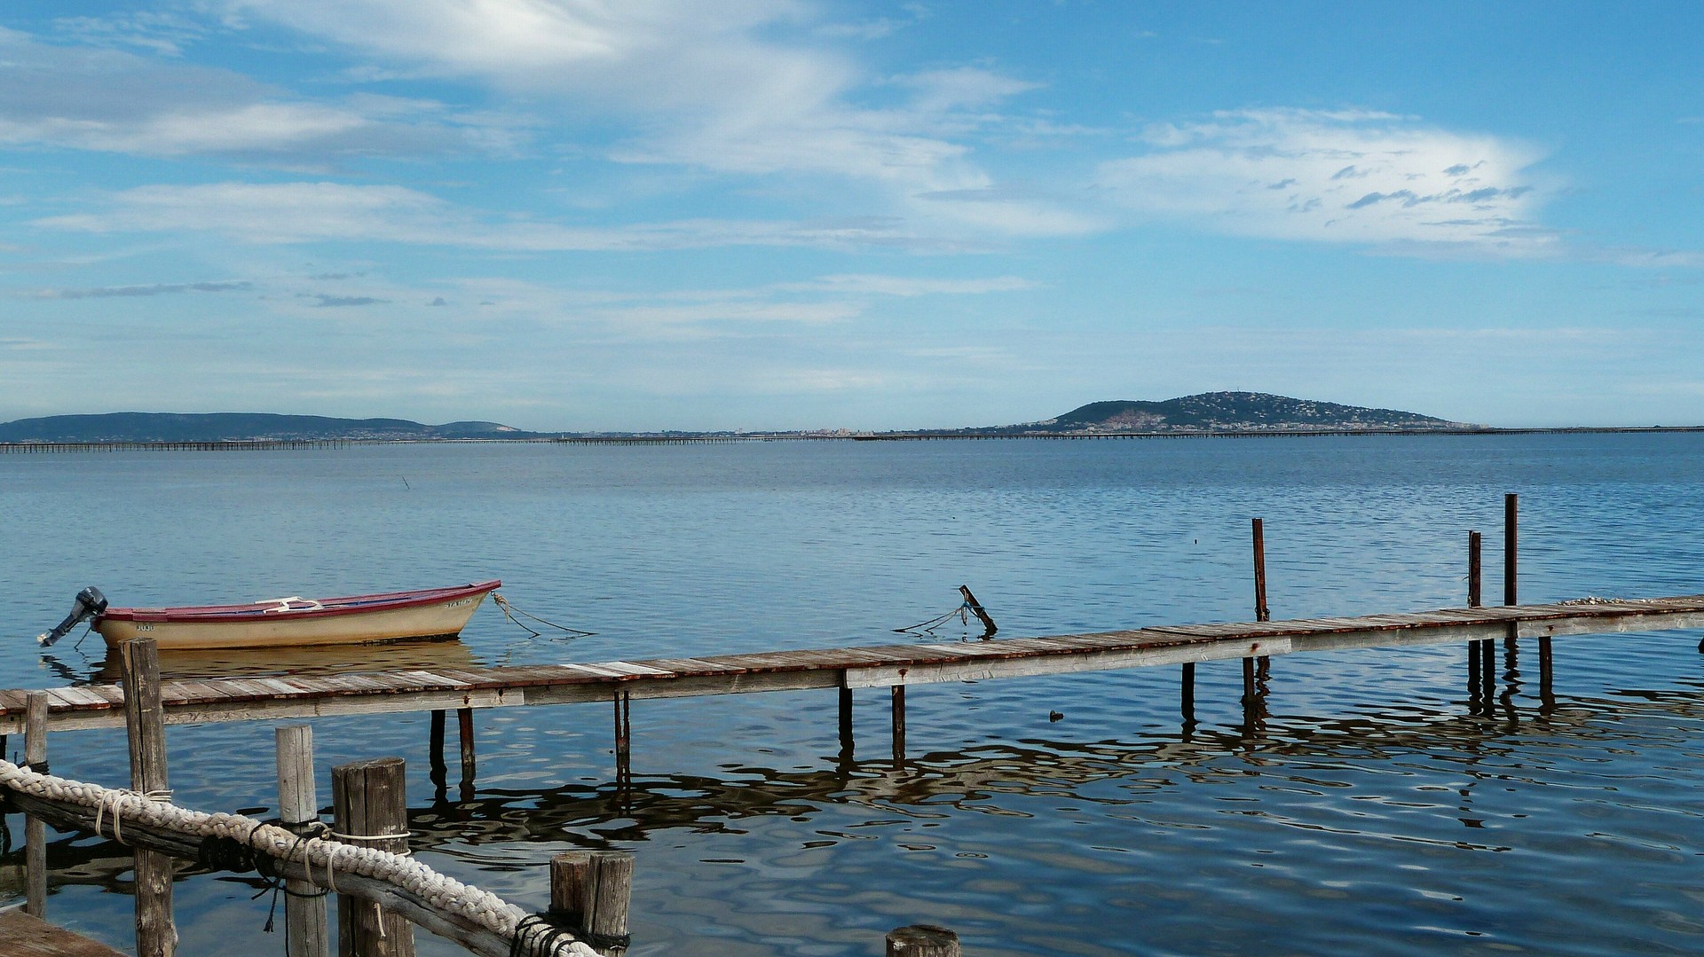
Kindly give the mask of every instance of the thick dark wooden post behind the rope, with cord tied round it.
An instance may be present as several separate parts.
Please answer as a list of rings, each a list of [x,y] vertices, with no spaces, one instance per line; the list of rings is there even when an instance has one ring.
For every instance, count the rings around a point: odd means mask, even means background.
[[[407,775],[402,758],[331,770],[332,828],[339,841],[390,853],[409,850]],[[339,957],[414,957],[414,925],[371,901],[337,894]]]

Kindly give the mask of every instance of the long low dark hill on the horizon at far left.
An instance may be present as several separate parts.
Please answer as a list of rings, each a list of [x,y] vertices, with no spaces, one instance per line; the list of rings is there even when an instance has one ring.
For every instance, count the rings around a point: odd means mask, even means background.
[[[107,412],[0,424],[0,443],[218,443],[320,439],[527,439],[501,422],[423,426],[407,419],[332,419],[271,412]]]

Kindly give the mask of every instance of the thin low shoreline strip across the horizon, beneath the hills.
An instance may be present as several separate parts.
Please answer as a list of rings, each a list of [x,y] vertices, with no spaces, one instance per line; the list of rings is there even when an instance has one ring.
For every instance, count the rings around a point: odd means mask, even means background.
[[[930,441],[930,439],[1302,439],[1327,436],[1551,436],[1704,433],[1704,426],[1556,426],[1472,429],[1223,429],[1167,433],[632,433],[564,434],[547,438],[421,438],[421,439],[223,439],[223,441],[26,441],[0,443],[0,455],[56,451],[288,451],[370,444],[717,444],[753,441]]]

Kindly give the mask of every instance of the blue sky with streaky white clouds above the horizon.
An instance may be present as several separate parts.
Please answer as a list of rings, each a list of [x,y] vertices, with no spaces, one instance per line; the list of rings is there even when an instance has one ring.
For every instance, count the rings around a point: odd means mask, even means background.
[[[0,7],[0,421],[1704,422],[1704,9]]]

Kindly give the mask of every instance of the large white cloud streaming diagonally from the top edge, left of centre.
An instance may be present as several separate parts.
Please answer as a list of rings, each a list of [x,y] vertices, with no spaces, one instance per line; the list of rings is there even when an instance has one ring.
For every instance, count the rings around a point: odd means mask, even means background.
[[[993,179],[951,136],[1000,123],[999,102],[1036,89],[982,68],[874,78],[813,43],[796,0],[223,0],[377,58],[368,70],[474,78],[613,117],[605,152],[624,163],[714,174],[850,179],[886,201],[987,189]],[[869,90],[907,90],[871,107]],[[891,97],[886,97],[891,99]],[[1034,204],[1031,204],[1034,206]],[[1080,218],[992,206],[913,206],[961,230],[1082,232]]]

